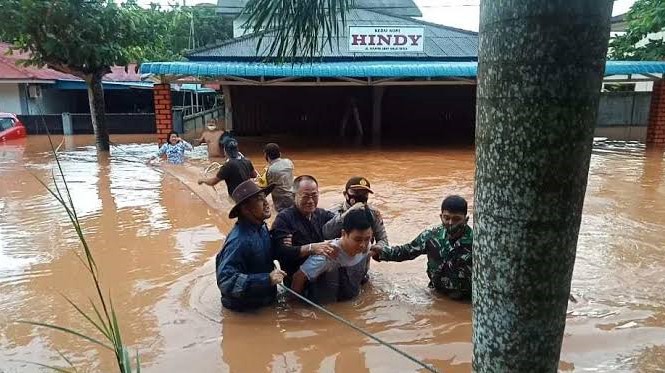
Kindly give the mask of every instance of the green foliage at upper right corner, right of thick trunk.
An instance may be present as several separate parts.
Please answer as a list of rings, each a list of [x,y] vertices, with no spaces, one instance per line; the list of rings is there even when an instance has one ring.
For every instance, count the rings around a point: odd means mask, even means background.
[[[665,29],[665,1],[637,0],[625,17],[628,28],[624,35],[617,36],[611,41],[610,58],[664,60],[665,42],[662,37],[640,42],[649,34]]]

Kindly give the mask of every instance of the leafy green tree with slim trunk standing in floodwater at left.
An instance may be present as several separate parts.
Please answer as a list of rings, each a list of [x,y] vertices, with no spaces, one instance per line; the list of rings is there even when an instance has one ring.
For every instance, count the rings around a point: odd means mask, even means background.
[[[111,66],[137,61],[146,40],[160,34],[135,1],[2,0],[0,37],[29,52],[26,64],[72,74],[88,85],[97,148],[109,150],[102,77]],[[11,21],[10,21],[11,20]]]

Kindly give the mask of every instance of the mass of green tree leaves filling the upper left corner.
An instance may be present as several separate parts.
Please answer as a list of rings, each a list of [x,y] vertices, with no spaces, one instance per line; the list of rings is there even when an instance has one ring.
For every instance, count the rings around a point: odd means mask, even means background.
[[[26,64],[83,78],[113,65],[182,59],[190,46],[232,36],[230,19],[214,6],[142,8],[136,0],[3,0],[0,39],[30,52]],[[11,21],[9,21],[11,20]],[[190,29],[194,26],[194,43]],[[193,44],[193,45],[191,45]]]

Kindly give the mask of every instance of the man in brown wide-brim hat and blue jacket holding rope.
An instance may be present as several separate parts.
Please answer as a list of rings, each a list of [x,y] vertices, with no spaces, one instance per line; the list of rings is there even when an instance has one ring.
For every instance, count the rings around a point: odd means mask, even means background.
[[[275,301],[276,285],[285,272],[273,268],[273,250],[265,220],[270,218],[266,197],[274,185],[260,188],[252,180],[242,182],[231,194],[235,206],[229,218],[238,218],[217,254],[217,286],[222,305],[235,311],[267,306]]]

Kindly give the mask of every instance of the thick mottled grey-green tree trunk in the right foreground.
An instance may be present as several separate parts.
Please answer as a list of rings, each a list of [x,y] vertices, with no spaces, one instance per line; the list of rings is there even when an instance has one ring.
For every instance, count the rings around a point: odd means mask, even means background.
[[[612,0],[482,0],[474,372],[556,372]]]

